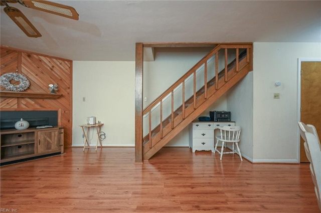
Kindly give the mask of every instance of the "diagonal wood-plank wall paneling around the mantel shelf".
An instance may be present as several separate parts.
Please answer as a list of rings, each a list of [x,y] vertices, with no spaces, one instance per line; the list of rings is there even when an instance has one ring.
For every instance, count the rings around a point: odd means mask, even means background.
[[[59,109],[59,125],[64,127],[64,146],[72,145],[72,61],[10,47],[1,47],[1,74],[19,69],[28,77],[24,92],[48,92],[48,84],[57,83],[57,99],[1,97],[1,109]],[[6,90],[1,88],[1,90]]]

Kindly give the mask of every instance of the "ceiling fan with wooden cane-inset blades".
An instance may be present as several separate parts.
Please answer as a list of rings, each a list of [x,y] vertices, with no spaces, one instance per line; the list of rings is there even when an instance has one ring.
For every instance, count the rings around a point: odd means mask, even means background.
[[[1,0],[1,6],[6,6],[4,11],[29,37],[40,37],[40,32],[28,20],[28,18],[17,8],[9,6],[8,3],[20,3],[26,7],[50,12],[56,15],[78,20],[79,14],[76,9],[60,3],[47,0]]]

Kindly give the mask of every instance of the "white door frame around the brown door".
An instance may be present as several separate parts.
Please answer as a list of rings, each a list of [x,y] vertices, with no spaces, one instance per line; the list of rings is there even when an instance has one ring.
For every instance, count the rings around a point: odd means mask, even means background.
[[[298,58],[297,59],[297,121],[301,119],[301,62],[306,61],[321,61],[321,57]],[[297,161],[300,163],[300,129],[297,126]]]

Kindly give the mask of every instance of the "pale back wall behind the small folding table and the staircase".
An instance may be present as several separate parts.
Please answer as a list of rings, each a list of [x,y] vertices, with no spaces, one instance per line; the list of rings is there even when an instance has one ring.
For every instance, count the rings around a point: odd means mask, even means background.
[[[155,61],[144,62],[143,96],[147,97],[144,106],[206,53],[160,51],[156,53]],[[83,133],[79,125],[84,124],[88,116],[96,116],[97,121],[104,123],[101,129],[107,136],[103,140],[104,146],[134,146],[134,90],[134,61],[73,61],[73,146],[83,145]],[[83,97],[86,101],[82,101]],[[209,116],[210,110],[226,110],[226,107],[226,95],[223,95],[201,116]],[[91,145],[95,145],[95,132],[90,131],[89,138]],[[188,127],[168,145],[188,146]]]

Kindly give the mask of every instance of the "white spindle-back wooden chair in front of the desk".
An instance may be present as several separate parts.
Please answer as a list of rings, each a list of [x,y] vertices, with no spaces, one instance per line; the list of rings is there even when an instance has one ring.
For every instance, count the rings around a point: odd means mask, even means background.
[[[237,153],[240,156],[241,160],[243,161],[240,147],[238,145],[238,142],[240,141],[241,127],[240,126],[223,126],[220,128],[220,131],[221,131],[221,135],[216,136],[214,154],[216,151],[220,153],[221,154],[220,160],[222,160],[223,154]],[[217,149],[219,141],[222,141],[221,151]],[[232,151],[224,152],[224,143],[232,143]],[[235,147],[234,144],[237,147],[237,151],[234,148]]]

